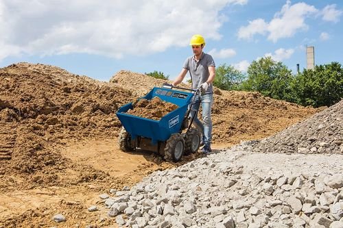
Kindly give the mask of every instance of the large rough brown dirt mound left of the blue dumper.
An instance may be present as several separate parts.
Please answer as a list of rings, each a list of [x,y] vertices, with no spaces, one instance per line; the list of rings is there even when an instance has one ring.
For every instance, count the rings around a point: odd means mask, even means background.
[[[10,159],[0,161],[0,173],[40,171],[32,183],[59,181],[51,173],[68,162],[56,145],[99,134],[115,138],[121,127],[115,112],[132,96],[114,84],[43,64],[1,68],[0,79],[0,151]]]

